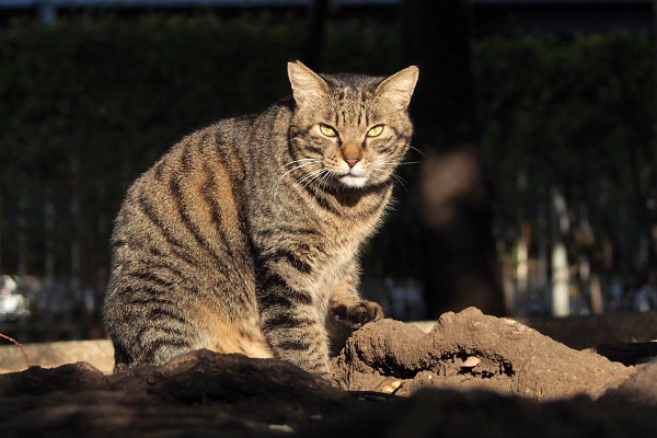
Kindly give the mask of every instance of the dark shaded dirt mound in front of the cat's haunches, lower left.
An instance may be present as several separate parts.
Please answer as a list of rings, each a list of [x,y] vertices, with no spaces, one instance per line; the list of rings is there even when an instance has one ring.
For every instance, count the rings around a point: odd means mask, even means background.
[[[87,362],[0,376],[3,437],[258,436],[355,403],[288,362],[209,350],[114,376]]]

